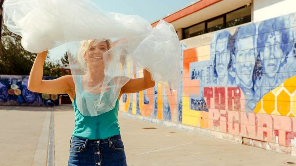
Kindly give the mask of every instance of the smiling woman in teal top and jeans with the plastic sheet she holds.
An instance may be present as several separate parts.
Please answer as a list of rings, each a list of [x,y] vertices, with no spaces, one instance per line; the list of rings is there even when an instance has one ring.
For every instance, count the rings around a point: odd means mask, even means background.
[[[174,27],[160,21],[152,28],[139,16],[102,12],[88,0],[6,0],[4,9],[4,23],[22,36],[22,46],[40,52],[28,89],[71,98],[75,129],[69,165],[126,165],[119,99],[152,88],[156,81],[177,89],[181,50]],[[67,54],[72,75],[42,80],[47,50],[62,43],[77,50]],[[143,77],[134,78],[139,71]]]

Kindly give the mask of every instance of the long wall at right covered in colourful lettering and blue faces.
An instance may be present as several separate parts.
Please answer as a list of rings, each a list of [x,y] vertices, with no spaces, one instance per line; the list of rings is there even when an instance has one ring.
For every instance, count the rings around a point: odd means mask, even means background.
[[[182,40],[178,90],[157,84],[124,94],[120,110],[133,118],[295,156],[295,17]],[[139,70],[129,65],[129,71]]]

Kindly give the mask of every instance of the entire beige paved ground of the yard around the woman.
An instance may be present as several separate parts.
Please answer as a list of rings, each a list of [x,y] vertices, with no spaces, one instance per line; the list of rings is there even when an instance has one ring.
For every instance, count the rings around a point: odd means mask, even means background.
[[[46,165],[51,108],[0,106],[0,166]],[[129,166],[287,165],[295,157],[119,116]],[[54,165],[66,166],[74,112],[54,107]],[[156,129],[143,129],[156,128]]]

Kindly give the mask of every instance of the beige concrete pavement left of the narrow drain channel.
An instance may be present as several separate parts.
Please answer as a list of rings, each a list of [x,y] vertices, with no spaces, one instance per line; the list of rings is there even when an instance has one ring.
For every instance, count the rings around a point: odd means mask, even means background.
[[[0,165],[45,165],[49,118],[46,107],[0,106]]]

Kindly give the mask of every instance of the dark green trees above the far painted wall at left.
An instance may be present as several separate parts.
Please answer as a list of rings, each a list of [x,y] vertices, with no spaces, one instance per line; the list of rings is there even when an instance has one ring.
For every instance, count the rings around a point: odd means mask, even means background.
[[[21,45],[21,37],[2,26],[0,52],[0,75],[29,75],[36,53],[31,53]],[[44,76],[61,76],[60,65],[46,57]]]

